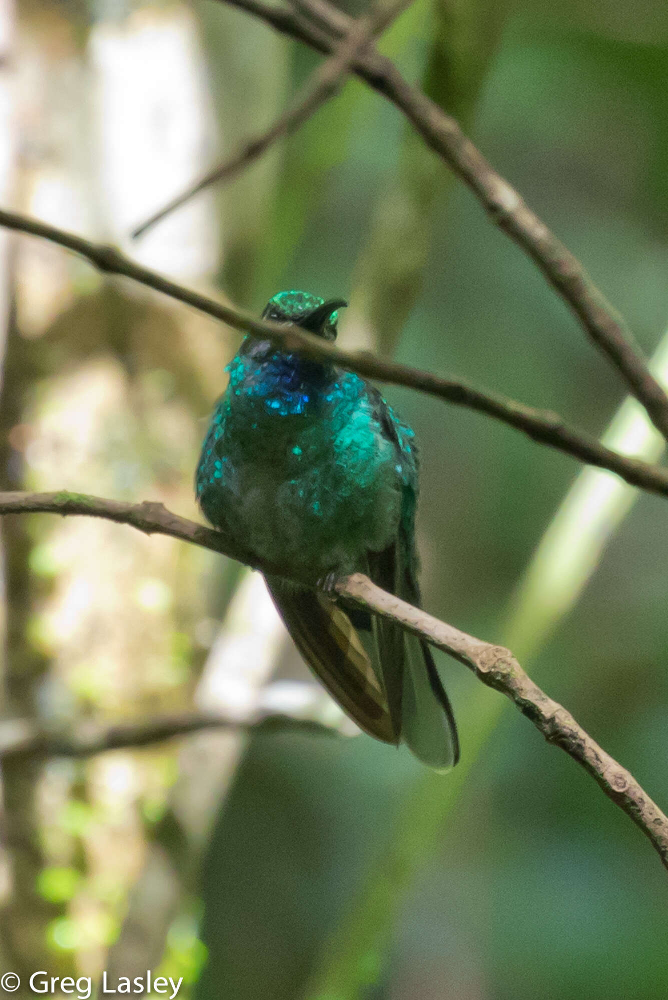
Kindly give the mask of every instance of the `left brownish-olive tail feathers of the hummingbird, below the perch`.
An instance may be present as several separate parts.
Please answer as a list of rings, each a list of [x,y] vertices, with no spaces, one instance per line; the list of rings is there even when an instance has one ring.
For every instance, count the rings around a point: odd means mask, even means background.
[[[319,591],[265,577],[295,646],[333,698],[376,739],[398,743],[387,699],[345,611]]]

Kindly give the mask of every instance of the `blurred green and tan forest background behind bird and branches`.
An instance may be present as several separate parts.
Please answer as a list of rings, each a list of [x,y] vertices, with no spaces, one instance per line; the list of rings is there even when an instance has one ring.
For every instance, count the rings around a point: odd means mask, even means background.
[[[595,434],[622,404],[536,268],[357,81],[228,188],[129,239],[273,120],[317,65],[304,47],[208,0],[21,0],[0,22],[5,204],[255,311],[283,287],[344,295],[346,346]],[[666,5],[416,0],[381,48],[462,121],[652,354],[668,324]],[[0,258],[2,488],[197,517],[199,441],[238,335],[34,240],[3,241]],[[512,642],[665,806],[665,501],[608,478],[606,507],[581,480],[549,557],[570,596],[543,617],[549,566],[518,588],[576,463],[478,415],[387,396],[421,445],[426,607]],[[259,577],[83,519],[6,518],[2,544],[7,718],[68,730],[195,705],[342,730],[7,759],[3,971],[150,968],[183,976],[179,996],[195,1000],[665,1000],[656,854],[460,665],[439,659],[462,762],[435,776],[345,735]],[[580,583],[578,560],[591,564]]]

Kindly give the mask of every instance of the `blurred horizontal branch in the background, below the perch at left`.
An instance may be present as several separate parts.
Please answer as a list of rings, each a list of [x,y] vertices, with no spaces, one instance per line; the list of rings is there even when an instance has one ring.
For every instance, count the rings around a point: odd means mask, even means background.
[[[300,729],[333,735],[335,730],[312,719],[290,715],[263,715],[242,721],[222,715],[187,712],[156,716],[143,722],[114,725],[85,722],[67,733],[42,729],[30,719],[0,721],[0,760],[18,757],[92,757],[109,750],[129,750],[151,746],[178,736],[189,736],[207,729],[253,730],[275,732]]]

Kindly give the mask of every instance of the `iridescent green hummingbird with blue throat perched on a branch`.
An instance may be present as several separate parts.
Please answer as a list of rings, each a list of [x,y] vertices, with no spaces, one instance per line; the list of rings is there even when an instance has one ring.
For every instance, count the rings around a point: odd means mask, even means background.
[[[262,318],[333,341],[346,305],[293,289],[274,295]],[[427,643],[323,585],[362,572],[419,606],[413,430],[358,375],[255,335],[226,371],[195,475],[203,514],[281,568],[265,573],[274,604],[353,721],[386,743],[405,742],[436,770],[453,767],[457,729]],[[313,586],[292,582],[304,579]]]

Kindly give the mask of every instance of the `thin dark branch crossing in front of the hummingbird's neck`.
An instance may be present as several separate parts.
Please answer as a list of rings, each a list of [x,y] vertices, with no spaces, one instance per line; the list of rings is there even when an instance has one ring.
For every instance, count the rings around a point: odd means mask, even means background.
[[[237,330],[271,340],[283,350],[299,352],[320,361],[330,361],[365,378],[376,379],[389,385],[407,386],[447,403],[453,403],[455,406],[465,406],[478,413],[484,413],[522,431],[539,444],[556,448],[589,465],[608,469],[631,486],[668,496],[668,470],[640,459],[627,458],[611,448],[606,448],[591,435],[570,427],[557,413],[525,406],[496,393],[482,392],[466,382],[442,378],[408,365],[384,361],[368,351],[344,351],[322,337],[316,337],[294,325],[281,326],[267,320],[258,320],[250,313],[177,285],[155,271],[131,261],[113,246],[92,243],[81,236],[16,212],[0,210],[0,226],[57,243],[85,257],[100,271],[119,274],[137,281],[163,295],[193,306],[214,319],[222,320]]]

